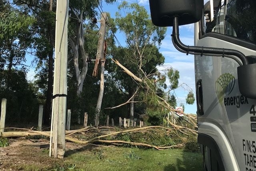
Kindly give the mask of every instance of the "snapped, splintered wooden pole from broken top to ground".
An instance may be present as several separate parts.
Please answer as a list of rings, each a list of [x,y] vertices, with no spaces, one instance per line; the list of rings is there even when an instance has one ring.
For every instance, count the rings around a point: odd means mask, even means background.
[[[99,92],[96,111],[95,111],[95,126],[96,127],[98,127],[98,125],[99,125],[100,108],[101,108],[103,91],[104,91],[104,64],[105,64],[105,60],[106,60],[106,58],[104,58],[104,45],[105,45],[105,52],[106,52],[105,35],[106,35],[107,17],[108,17],[107,13],[104,12],[100,19],[100,32],[99,32],[97,54],[96,54],[94,70],[92,73],[92,76],[94,76],[94,77],[96,77],[98,75],[98,66],[99,66],[100,62],[102,62],[101,74],[100,74],[100,92]]]

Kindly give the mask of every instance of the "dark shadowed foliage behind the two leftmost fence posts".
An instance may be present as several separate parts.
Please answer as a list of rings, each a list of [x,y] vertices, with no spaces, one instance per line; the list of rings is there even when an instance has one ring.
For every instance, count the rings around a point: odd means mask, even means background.
[[[6,80],[11,76],[10,86]],[[36,122],[38,116],[38,96],[32,83],[26,80],[26,72],[12,69],[0,72],[0,98],[7,99],[6,123]]]

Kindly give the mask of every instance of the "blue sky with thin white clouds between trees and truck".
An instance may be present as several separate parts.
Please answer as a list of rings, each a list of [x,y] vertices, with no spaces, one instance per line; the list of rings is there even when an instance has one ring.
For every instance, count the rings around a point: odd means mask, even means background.
[[[102,10],[104,12],[109,12],[112,18],[115,18],[116,12],[118,12],[118,4],[121,4],[124,0],[118,0],[113,4],[102,3]],[[128,3],[137,3],[141,6],[144,6],[150,14],[150,7],[148,0],[126,0]],[[120,10],[122,16],[126,16],[126,10]],[[178,50],[176,50],[172,44],[171,40],[172,27],[167,28],[166,37],[162,41],[160,46],[160,52],[165,57],[165,63],[163,66],[159,66],[158,70],[163,71],[167,68],[174,68],[180,72],[179,87],[175,90],[177,95],[177,104],[184,103],[185,113],[194,113],[196,114],[196,103],[193,105],[186,104],[186,95],[190,89],[196,92],[195,90],[195,76],[194,76],[194,56],[186,55]],[[119,42],[124,40],[124,34],[119,31],[115,34]],[[189,46],[194,45],[194,24],[189,24],[185,26],[180,26],[180,40]],[[183,84],[184,83],[184,84]],[[170,85],[169,82],[166,84]]]

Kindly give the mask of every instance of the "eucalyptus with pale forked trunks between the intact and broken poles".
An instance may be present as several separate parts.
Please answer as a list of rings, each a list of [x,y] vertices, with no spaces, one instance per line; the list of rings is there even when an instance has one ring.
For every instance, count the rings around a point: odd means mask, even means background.
[[[106,0],[106,2],[114,2],[115,0]],[[100,6],[102,0],[70,0],[70,26],[69,26],[69,42],[72,48],[74,69],[77,81],[77,95],[82,92],[84,80],[88,72],[88,59],[92,58],[84,48],[85,42],[85,29],[84,24],[92,21],[97,15],[96,8]],[[96,21],[97,22],[97,21]],[[96,56],[96,54],[95,54]],[[80,58],[82,60],[80,60]],[[79,64],[82,62],[82,64]]]

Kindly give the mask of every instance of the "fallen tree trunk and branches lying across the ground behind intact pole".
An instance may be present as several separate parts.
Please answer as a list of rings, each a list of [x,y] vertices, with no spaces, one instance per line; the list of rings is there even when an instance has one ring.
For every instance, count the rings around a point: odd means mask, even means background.
[[[170,121],[169,121],[170,122]],[[171,122],[170,122],[171,123]],[[85,127],[66,131],[66,141],[84,145],[105,143],[122,146],[141,146],[158,150],[173,147],[186,148],[191,137],[196,139],[196,131],[187,127],[171,124],[172,127],[148,126],[141,128],[119,130],[117,127]],[[7,128],[6,128],[7,129]],[[8,128],[10,129],[10,128]],[[18,128],[15,128],[18,129]],[[99,135],[100,134],[100,135]],[[2,137],[30,137],[43,135],[50,137],[50,131],[24,129],[22,131],[3,132]],[[193,141],[194,141],[193,140]]]

